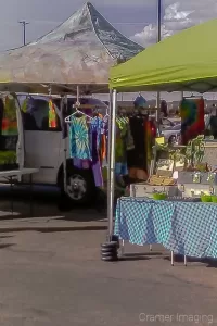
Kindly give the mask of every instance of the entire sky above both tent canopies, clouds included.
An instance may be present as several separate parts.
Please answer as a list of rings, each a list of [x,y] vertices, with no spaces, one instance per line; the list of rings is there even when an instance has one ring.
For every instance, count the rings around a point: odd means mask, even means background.
[[[216,0],[162,0],[163,36],[217,16]],[[157,0],[93,0],[122,33],[149,46],[156,40]],[[27,20],[27,40],[44,35],[85,3],[84,0],[7,0],[0,11],[0,50],[22,43],[20,20]],[[136,36],[135,36],[136,35]]]

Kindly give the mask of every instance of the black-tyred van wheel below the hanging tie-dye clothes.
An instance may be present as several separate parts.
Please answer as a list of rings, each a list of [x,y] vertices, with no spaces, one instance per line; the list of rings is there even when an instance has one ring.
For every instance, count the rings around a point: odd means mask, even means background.
[[[64,191],[64,179],[62,176],[62,191]],[[97,193],[97,187],[92,171],[79,170],[76,167],[67,168],[66,197],[72,203],[89,204],[93,201]]]

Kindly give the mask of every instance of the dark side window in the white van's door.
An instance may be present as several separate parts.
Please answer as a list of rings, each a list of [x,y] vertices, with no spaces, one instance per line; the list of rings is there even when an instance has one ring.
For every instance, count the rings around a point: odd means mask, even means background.
[[[23,112],[24,130],[61,131],[60,118],[56,115],[56,127],[49,127],[49,102],[34,100],[31,108]]]

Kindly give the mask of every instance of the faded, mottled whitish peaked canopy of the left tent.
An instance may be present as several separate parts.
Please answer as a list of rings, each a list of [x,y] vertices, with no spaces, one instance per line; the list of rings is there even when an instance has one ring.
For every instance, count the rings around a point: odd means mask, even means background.
[[[80,92],[107,91],[110,67],[141,50],[88,2],[37,41],[2,53],[0,90],[9,90],[10,84],[13,91],[36,90],[40,85],[40,91],[44,91],[48,84],[53,84],[53,91],[55,85],[68,92],[77,85]]]

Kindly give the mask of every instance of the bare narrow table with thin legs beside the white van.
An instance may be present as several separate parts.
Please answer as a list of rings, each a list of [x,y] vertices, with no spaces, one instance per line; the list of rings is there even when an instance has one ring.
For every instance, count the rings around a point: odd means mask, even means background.
[[[11,212],[13,214],[13,180],[22,175],[29,175],[29,185],[30,185],[30,216],[34,215],[34,206],[33,206],[33,174],[38,173],[38,168],[21,168],[21,170],[10,170],[10,171],[0,171],[0,178],[5,178],[10,181],[11,186]]]

